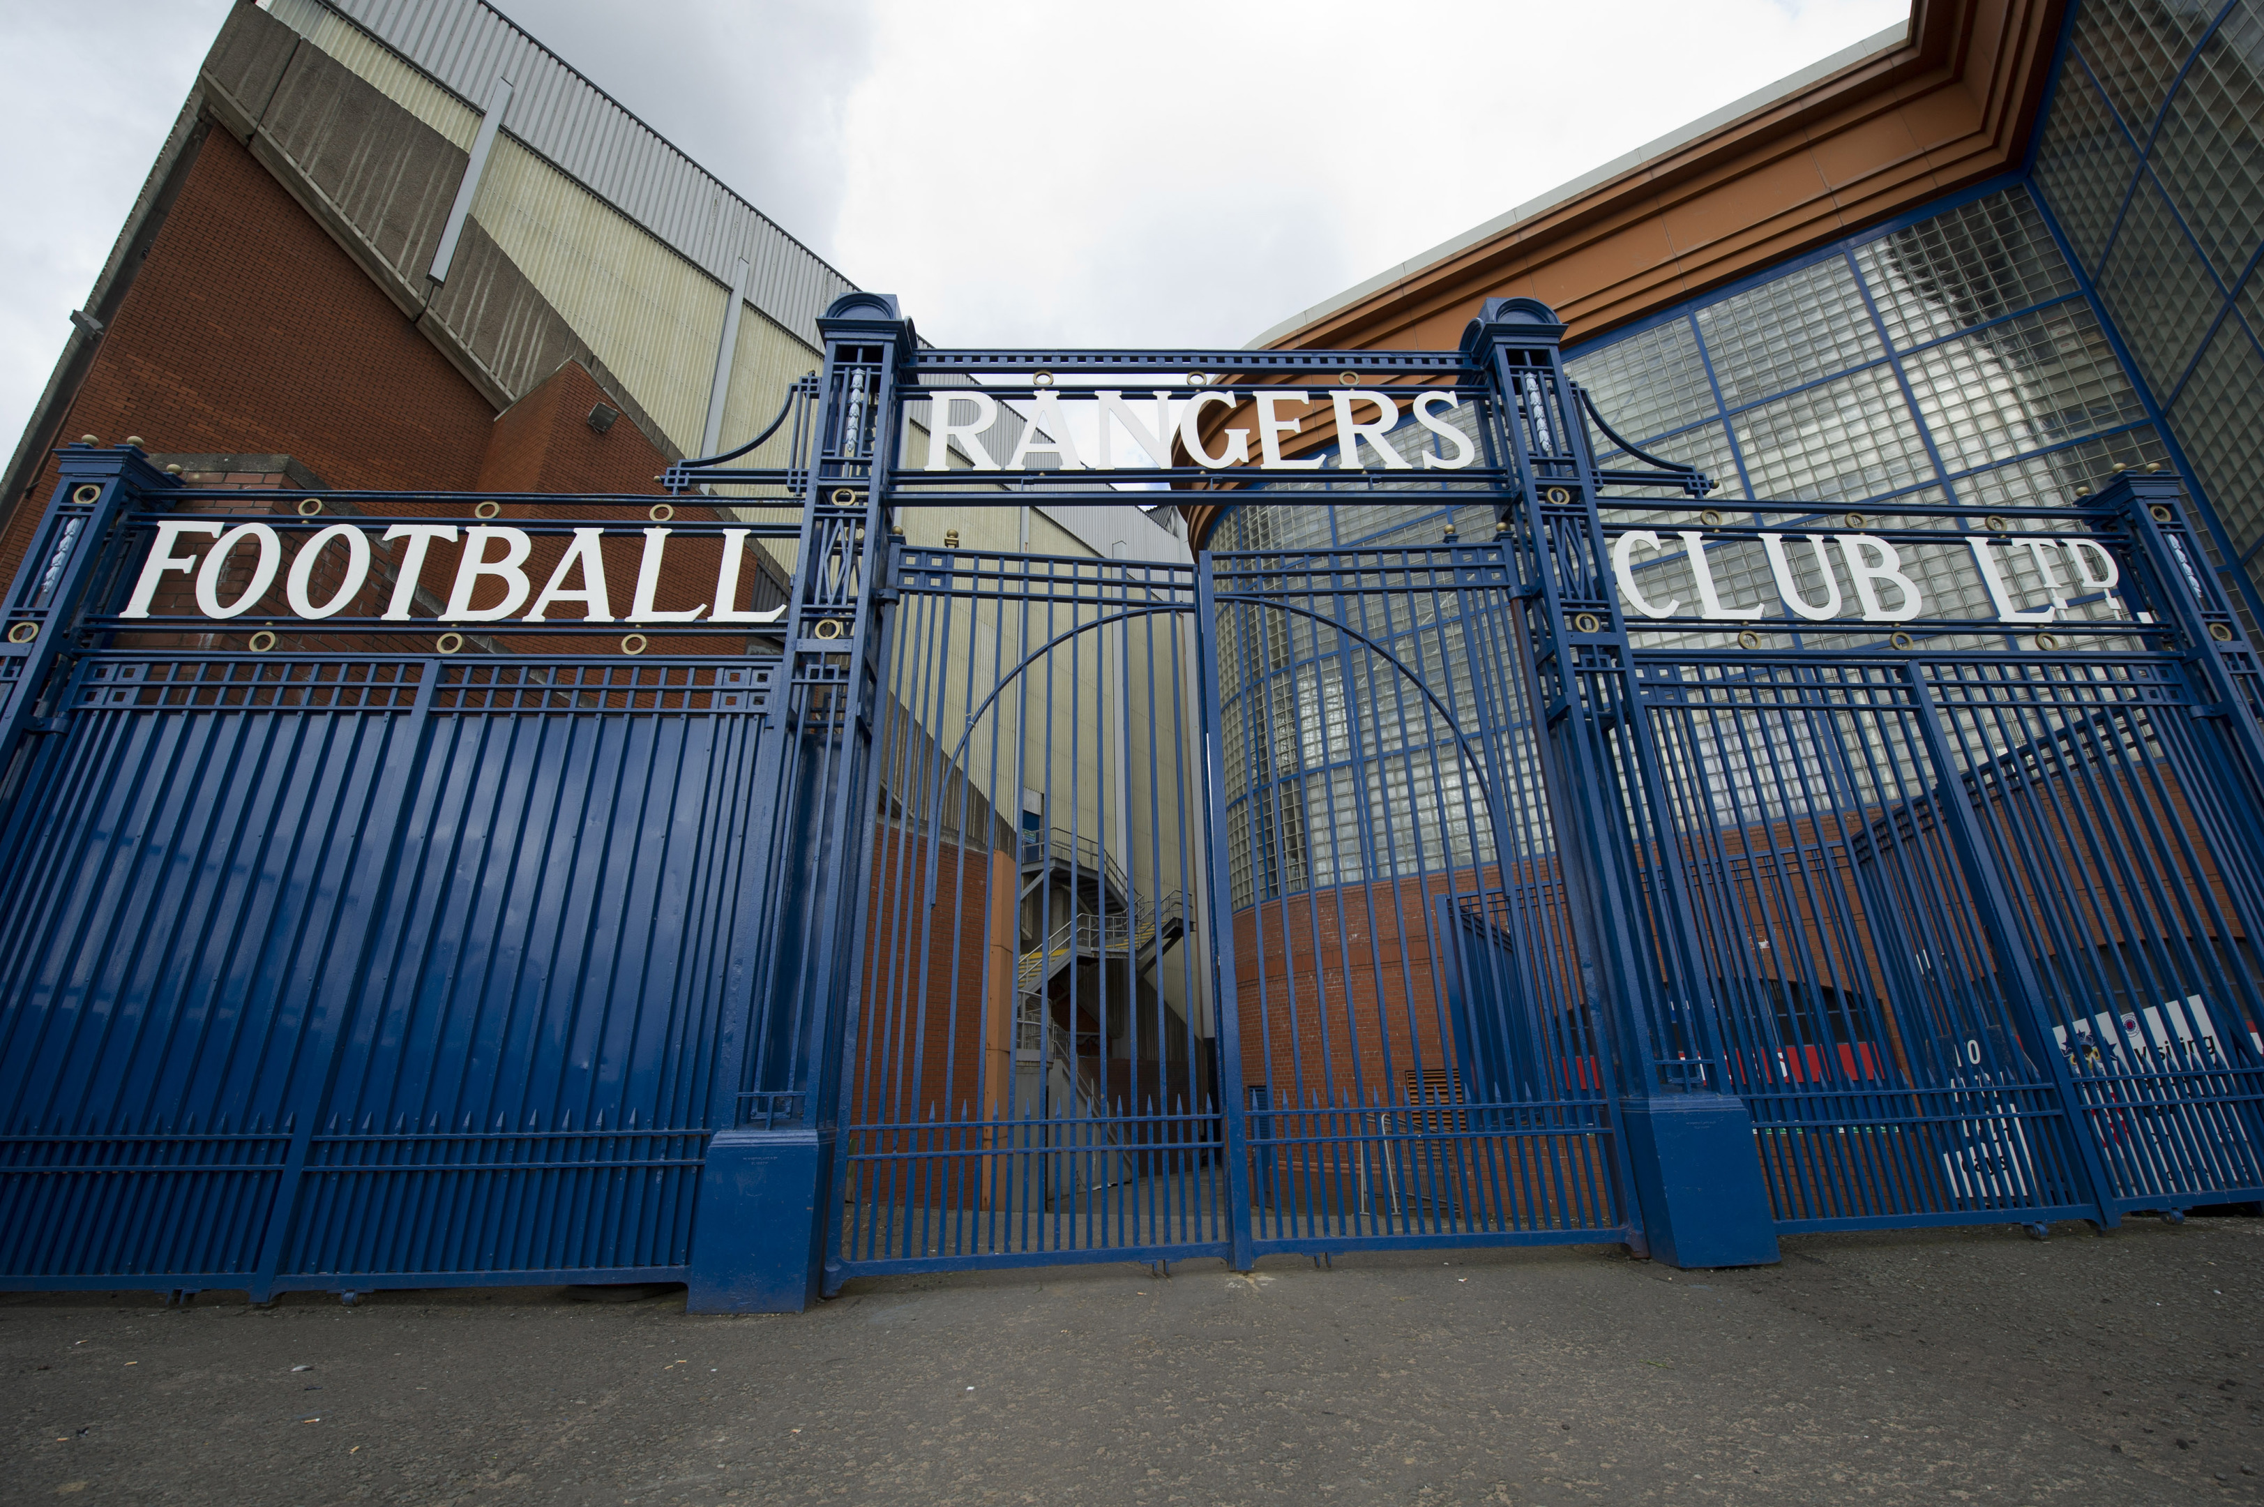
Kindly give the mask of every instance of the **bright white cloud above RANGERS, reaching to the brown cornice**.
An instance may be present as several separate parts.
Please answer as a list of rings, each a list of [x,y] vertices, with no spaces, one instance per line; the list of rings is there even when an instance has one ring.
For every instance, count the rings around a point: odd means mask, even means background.
[[[1902,0],[881,7],[833,242],[946,344],[1225,344]]]

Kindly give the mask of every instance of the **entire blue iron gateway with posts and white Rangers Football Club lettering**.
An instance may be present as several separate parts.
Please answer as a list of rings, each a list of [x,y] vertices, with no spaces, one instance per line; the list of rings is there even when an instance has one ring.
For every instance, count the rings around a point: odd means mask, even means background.
[[[1519,299],[1458,351],[822,329],[790,462],[666,501],[63,453],[0,632],[0,1283],[797,1308],[2264,1197],[2264,696],[2167,478],[1709,508]],[[996,528],[1109,480],[1435,533]]]

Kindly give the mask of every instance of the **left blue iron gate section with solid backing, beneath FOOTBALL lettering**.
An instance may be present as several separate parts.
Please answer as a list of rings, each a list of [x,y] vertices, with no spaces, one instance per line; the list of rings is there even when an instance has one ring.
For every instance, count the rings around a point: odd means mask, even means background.
[[[290,542],[500,517],[557,557],[650,499],[186,494],[131,451],[63,471],[34,555],[57,569],[11,601],[16,641],[57,653],[9,666],[7,1280],[681,1280],[738,1090],[777,653],[580,623],[475,653],[383,621],[401,571],[367,569],[292,587],[335,596],[324,621],[138,619],[149,539],[215,514]],[[208,589],[251,605],[260,569]]]

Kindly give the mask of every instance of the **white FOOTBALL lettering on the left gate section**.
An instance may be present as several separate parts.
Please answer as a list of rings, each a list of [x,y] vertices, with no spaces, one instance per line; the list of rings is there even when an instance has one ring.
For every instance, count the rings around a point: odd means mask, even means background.
[[[331,523],[328,528],[308,535],[292,555],[290,571],[283,571],[283,537],[272,523],[238,523],[222,533],[222,523],[217,521],[201,523],[168,519],[156,526],[156,539],[149,542],[149,560],[143,562],[140,580],[134,582],[134,596],[127,598],[127,610],[120,616],[149,616],[149,605],[156,601],[158,589],[165,587],[168,576],[190,576],[195,580],[195,601],[201,616],[242,616],[260,605],[260,598],[267,596],[269,587],[274,587],[278,573],[283,573],[283,598],[290,605],[290,616],[315,621],[335,616],[344,612],[355,596],[360,596],[365,585],[369,585],[374,533],[376,528],[362,528],[360,523]],[[537,591],[534,578],[525,569],[528,560],[534,555],[534,537],[523,528],[475,523],[460,530],[455,523],[394,523],[376,539],[380,546],[405,544],[396,562],[392,596],[378,619],[385,623],[412,621],[410,603],[417,601],[426,555],[432,551],[432,544],[457,544],[460,537],[464,548],[455,567],[455,580],[448,582],[446,605],[437,619],[414,621],[496,623],[503,619],[516,619],[521,623],[777,623],[786,616],[783,605],[767,612],[745,612],[736,605],[740,598],[738,578],[747,553],[747,535],[754,533],[749,528],[720,530],[722,567],[715,576],[713,607],[709,607],[709,603],[700,603],[691,610],[663,612],[654,605],[654,596],[661,587],[668,535],[675,530],[645,528],[643,551],[636,564],[636,587],[629,594],[629,610],[616,619],[611,582],[604,578],[602,544],[609,533],[616,537],[629,535],[629,530],[575,528],[566,553],[550,569],[550,578]],[[213,542],[211,548],[204,551],[201,562],[195,553],[174,553],[197,535]],[[387,555],[389,553],[392,551],[387,551]],[[235,601],[220,601],[222,589],[229,587],[229,564],[238,560],[249,560],[251,576],[235,591]],[[315,601],[315,573],[324,564],[335,569],[337,585],[328,587],[328,596],[324,601]],[[482,582],[489,587],[487,594],[500,589],[500,601],[473,607],[473,596],[482,594]],[[552,610],[566,605],[577,607],[580,612],[571,619],[550,616]]]

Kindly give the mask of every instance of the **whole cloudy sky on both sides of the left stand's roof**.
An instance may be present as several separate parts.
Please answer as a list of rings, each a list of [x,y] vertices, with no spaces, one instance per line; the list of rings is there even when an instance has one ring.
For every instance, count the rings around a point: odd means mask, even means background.
[[[0,0],[20,433],[224,0]],[[505,0],[921,333],[1223,344],[1909,16],[1909,0]]]

